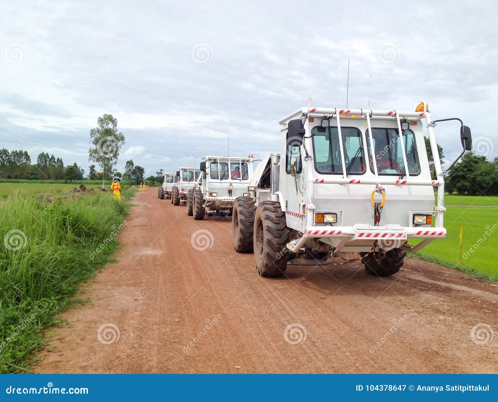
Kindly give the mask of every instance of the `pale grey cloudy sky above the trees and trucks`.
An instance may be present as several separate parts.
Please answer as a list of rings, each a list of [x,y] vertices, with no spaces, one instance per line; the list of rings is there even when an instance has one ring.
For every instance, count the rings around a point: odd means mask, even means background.
[[[88,172],[90,129],[111,113],[126,137],[121,172],[127,159],[147,176],[174,171],[198,147],[226,154],[228,138],[231,155],[261,158],[308,97],[346,106],[350,59],[350,108],[367,108],[369,94],[373,109],[426,101],[498,155],[496,2],[345,4],[4,2],[0,147]],[[458,155],[457,124],[436,135],[446,159]]]

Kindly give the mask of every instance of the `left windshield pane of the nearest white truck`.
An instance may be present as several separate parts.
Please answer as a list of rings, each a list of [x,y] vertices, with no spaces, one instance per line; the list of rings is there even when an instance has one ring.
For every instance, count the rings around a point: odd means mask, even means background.
[[[342,174],[341,147],[337,127],[314,127],[311,131],[315,169],[323,174]],[[341,127],[344,159],[348,174],[365,173],[362,133],[356,127]]]

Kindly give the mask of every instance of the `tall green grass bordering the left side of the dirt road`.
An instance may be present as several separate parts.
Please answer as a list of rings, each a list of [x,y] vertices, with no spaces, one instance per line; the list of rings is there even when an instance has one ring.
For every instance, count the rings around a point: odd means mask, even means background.
[[[40,201],[26,194],[0,203],[0,373],[25,372],[56,313],[78,303],[82,281],[111,261],[128,213],[107,193]],[[97,248],[100,252],[94,252]]]

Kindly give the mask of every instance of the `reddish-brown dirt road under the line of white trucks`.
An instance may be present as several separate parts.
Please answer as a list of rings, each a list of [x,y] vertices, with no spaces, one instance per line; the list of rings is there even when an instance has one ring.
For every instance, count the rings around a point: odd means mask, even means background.
[[[119,262],[35,372],[498,372],[496,284],[413,259],[387,278],[342,260],[263,278],[228,219],[196,221],[153,188],[134,202]]]

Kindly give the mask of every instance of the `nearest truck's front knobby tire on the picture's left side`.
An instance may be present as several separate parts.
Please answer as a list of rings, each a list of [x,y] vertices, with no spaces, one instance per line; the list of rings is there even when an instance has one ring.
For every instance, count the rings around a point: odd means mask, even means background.
[[[254,215],[254,259],[259,275],[280,276],[287,268],[289,229],[275,201],[260,202]]]

